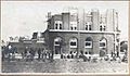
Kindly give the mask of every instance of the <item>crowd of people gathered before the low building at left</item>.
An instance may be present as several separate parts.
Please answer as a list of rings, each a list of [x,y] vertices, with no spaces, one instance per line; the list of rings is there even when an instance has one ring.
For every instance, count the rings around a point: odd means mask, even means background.
[[[34,59],[42,60],[44,59],[50,59],[50,51],[44,49],[44,48],[25,48],[22,52],[17,51],[15,47],[4,47],[2,48],[2,60],[16,60],[17,56],[18,59],[23,59],[25,61],[32,61]]]

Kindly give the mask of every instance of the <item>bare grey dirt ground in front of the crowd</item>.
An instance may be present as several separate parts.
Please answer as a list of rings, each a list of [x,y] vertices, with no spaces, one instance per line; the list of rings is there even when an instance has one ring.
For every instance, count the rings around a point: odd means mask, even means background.
[[[117,61],[83,62],[82,60],[3,61],[2,73],[128,73],[128,63]]]

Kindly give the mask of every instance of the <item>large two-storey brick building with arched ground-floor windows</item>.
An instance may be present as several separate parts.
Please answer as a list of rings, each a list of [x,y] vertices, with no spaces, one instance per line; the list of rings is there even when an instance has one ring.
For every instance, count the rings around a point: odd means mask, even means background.
[[[119,52],[118,13],[107,10],[101,14],[75,10],[51,15],[48,13],[48,28],[44,41],[54,55],[98,54],[104,56]]]

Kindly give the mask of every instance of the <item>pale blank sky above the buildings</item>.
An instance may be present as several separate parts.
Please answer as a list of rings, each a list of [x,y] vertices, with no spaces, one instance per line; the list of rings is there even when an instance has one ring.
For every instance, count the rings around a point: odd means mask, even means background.
[[[120,38],[128,39],[128,1],[2,1],[1,38],[6,41],[11,36],[31,37],[34,31],[44,31],[48,12],[61,13],[68,8],[99,9],[101,13],[117,10]]]

